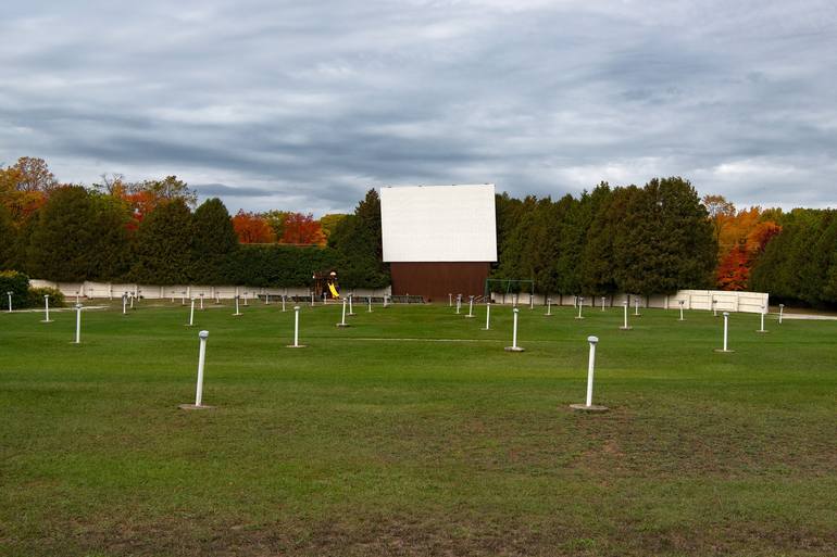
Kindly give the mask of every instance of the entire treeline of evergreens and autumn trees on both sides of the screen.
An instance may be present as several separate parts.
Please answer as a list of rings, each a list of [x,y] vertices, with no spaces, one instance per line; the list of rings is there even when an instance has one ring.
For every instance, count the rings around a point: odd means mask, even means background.
[[[0,168],[0,269],[57,281],[299,287],[336,269],[345,288],[383,288],[380,202],[350,215],[238,212],[174,176],[91,187],[60,183],[40,159]],[[492,278],[534,280],[544,294],[758,290],[837,306],[832,210],[736,210],[699,199],[679,177],[600,183],[580,197],[497,195]]]

